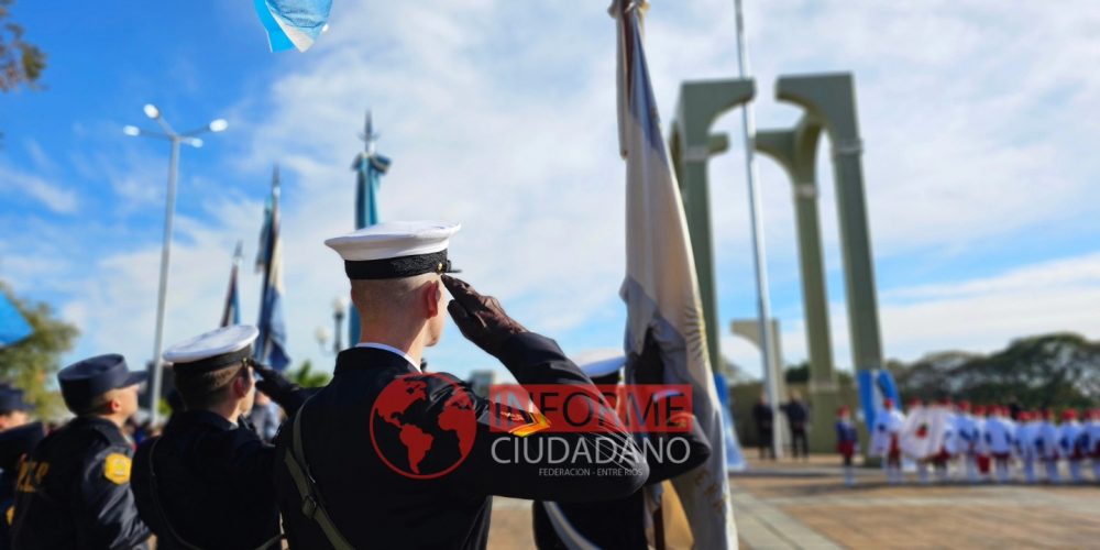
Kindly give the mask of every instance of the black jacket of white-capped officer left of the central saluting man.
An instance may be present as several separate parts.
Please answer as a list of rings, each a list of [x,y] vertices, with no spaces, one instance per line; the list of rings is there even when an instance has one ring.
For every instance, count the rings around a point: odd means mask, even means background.
[[[153,501],[151,451],[163,515]],[[277,537],[274,457],[275,448],[255,431],[218,414],[174,415],[158,439],[142,442],[134,459],[138,509],[160,548],[186,548],[178,536],[191,547],[249,550]]]

